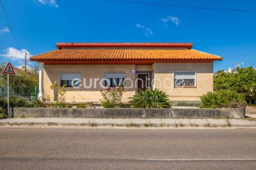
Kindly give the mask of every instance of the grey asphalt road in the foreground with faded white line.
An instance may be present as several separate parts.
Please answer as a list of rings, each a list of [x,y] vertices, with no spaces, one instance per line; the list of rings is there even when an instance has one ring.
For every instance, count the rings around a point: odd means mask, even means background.
[[[0,128],[0,169],[256,169],[256,129]]]

